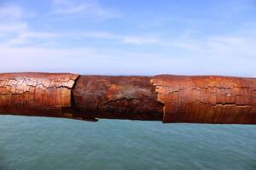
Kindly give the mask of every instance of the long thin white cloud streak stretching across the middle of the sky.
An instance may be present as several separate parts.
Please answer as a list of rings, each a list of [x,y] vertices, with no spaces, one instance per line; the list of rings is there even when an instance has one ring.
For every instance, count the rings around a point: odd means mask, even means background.
[[[9,28],[9,29],[8,29]],[[159,36],[126,36],[121,34],[115,34],[108,31],[84,31],[84,32],[40,32],[31,31],[26,25],[9,26],[3,28],[0,26],[0,35],[5,31],[13,31],[16,33],[15,37],[9,38],[3,45],[26,45],[30,44],[35,47],[51,46],[53,43],[56,45],[57,40],[55,38],[66,38],[71,41],[77,39],[87,38],[99,39],[100,41],[112,40],[116,43],[123,43],[126,45],[155,45],[156,48],[170,48],[170,50],[181,49],[192,53],[199,54],[226,54],[233,56],[256,56],[255,52],[255,40],[253,37],[239,37],[239,36],[216,36],[216,37],[205,37],[204,39],[198,40],[193,38],[164,38]],[[34,42],[34,40],[41,40],[43,42]],[[207,56],[206,56],[207,57]]]

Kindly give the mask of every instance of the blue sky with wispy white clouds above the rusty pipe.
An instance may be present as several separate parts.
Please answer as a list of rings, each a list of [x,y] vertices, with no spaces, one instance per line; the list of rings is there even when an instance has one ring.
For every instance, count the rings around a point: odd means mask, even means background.
[[[0,72],[256,77],[256,0],[0,0]]]

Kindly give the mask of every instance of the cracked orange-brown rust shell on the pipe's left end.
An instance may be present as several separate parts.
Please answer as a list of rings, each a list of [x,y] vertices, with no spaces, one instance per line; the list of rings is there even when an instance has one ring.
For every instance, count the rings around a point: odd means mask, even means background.
[[[0,74],[0,114],[65,116],[72,105],[74,74]]]

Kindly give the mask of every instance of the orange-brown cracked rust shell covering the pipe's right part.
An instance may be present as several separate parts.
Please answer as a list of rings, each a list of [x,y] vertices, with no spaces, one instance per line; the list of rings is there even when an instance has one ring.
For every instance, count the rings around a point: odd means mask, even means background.
[[[163,122],[256,124],[256,79],[161,75],[151,82]]]

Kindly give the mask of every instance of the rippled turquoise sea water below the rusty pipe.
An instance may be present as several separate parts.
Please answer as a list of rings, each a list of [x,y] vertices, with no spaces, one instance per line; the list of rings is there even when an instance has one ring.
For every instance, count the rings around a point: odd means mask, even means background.
[[[256,126],[0,116],[0,169],[256,169]]]

